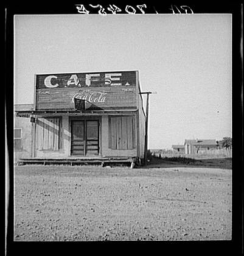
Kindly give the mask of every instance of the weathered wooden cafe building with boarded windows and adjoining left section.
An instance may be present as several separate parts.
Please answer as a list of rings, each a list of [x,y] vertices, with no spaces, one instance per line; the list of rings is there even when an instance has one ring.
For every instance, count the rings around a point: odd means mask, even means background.
[[[34,104],[15,107],[16,160],[141,163],[145,113],[140,93],[138,71],[36,74]]]

